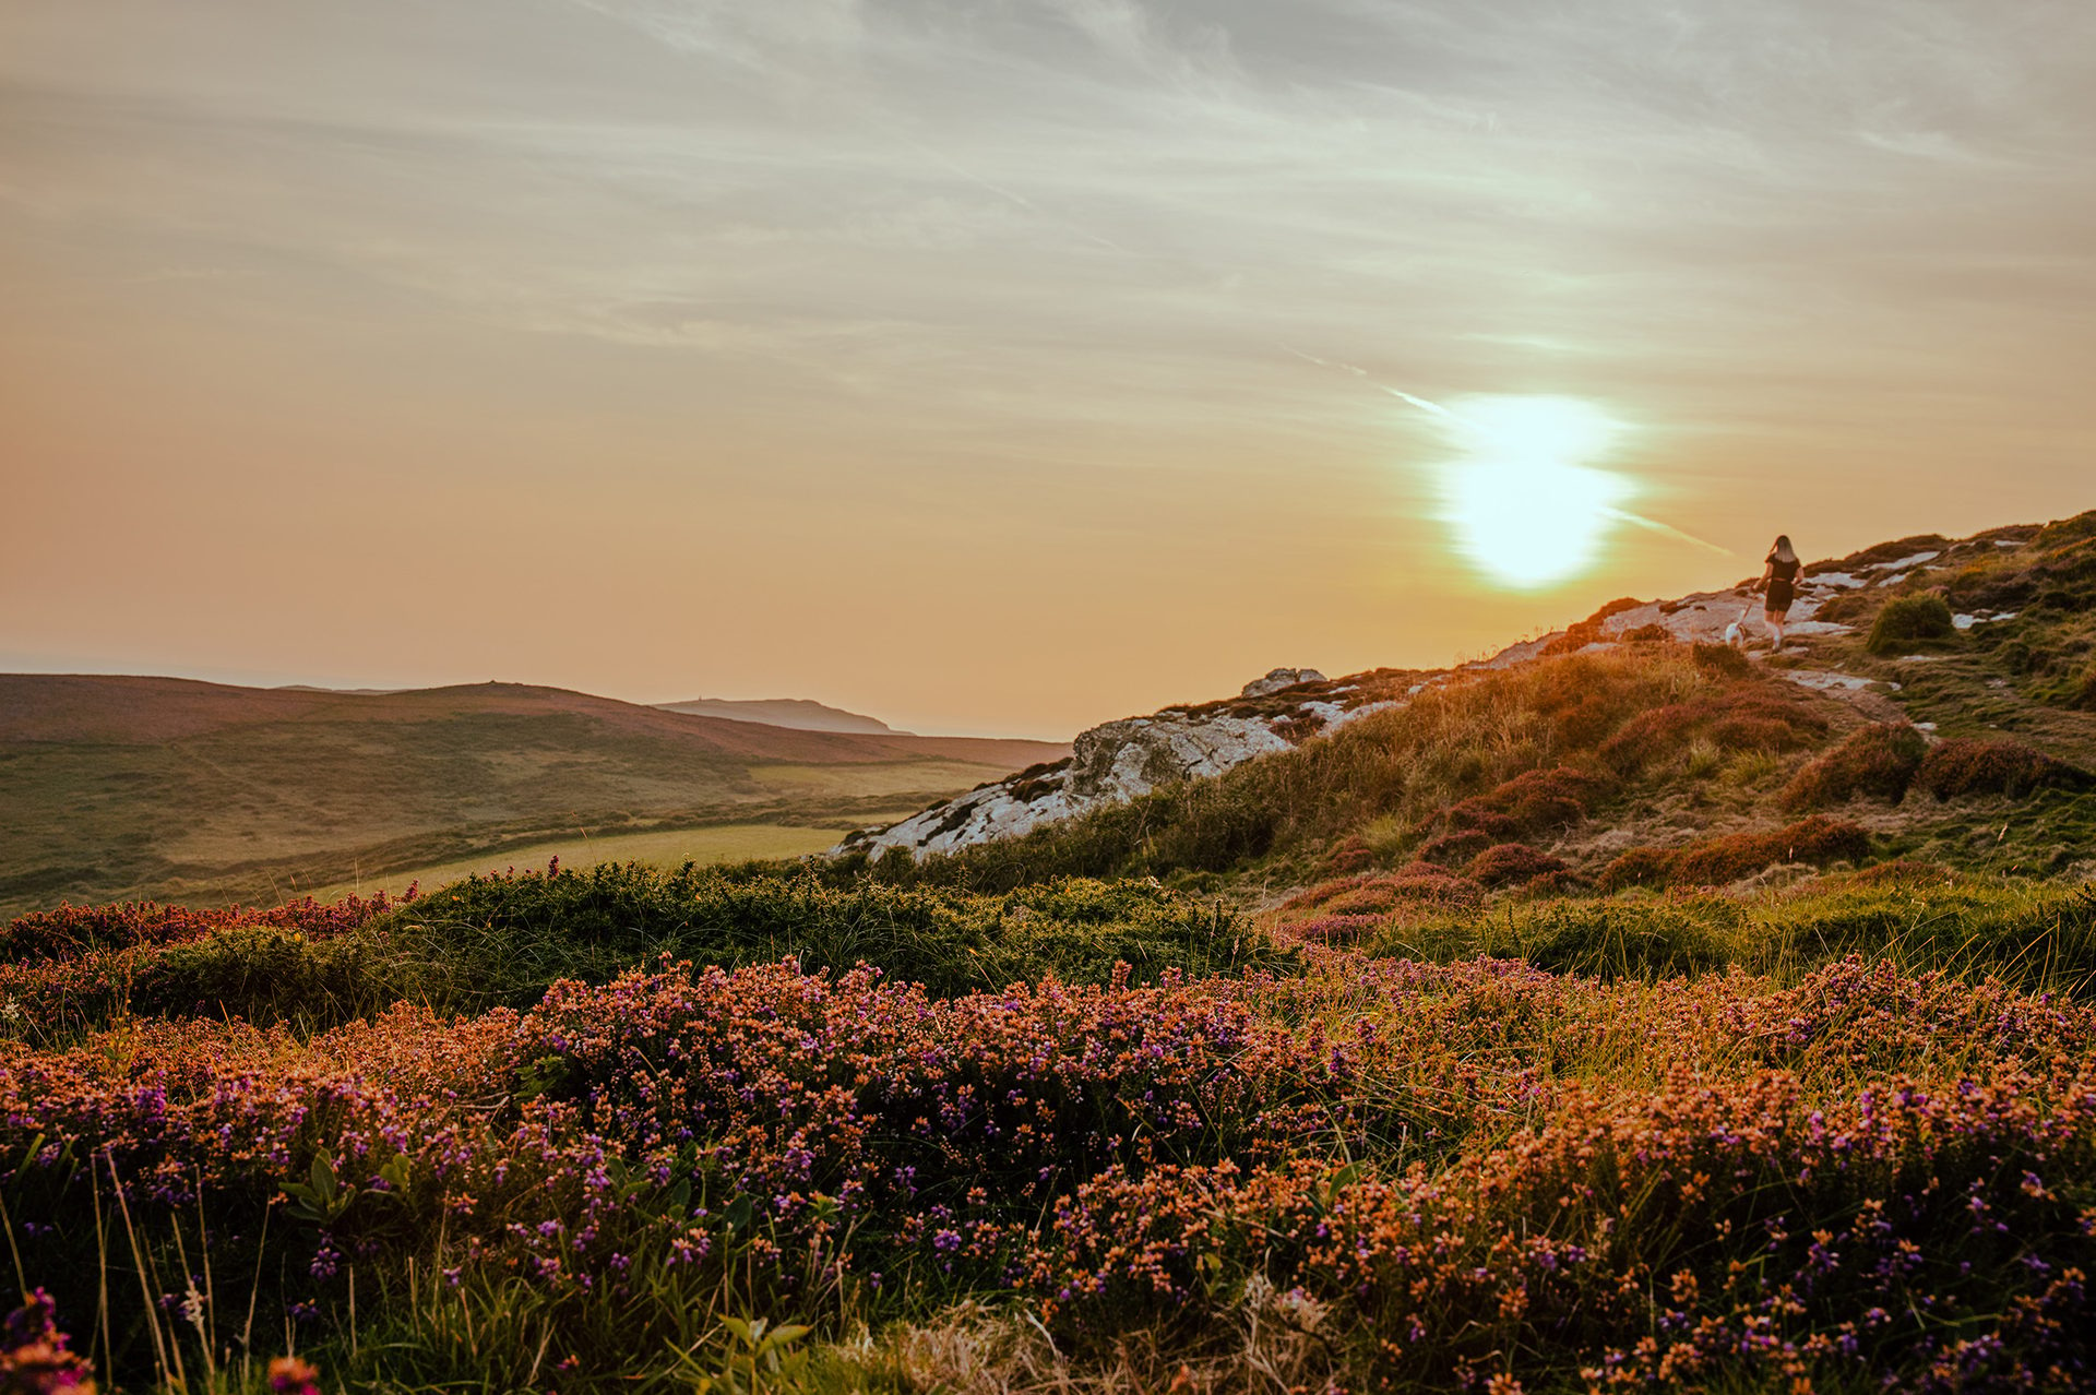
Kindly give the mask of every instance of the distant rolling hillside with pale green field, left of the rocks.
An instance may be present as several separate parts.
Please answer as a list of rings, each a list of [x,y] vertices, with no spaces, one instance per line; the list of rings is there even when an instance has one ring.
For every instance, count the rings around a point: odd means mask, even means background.
[[[587,832],[845,829],[1061,754],[767,727],[551,687],[0,674],[0,911],[270,901]],[[742,846],[740,842],[736,846]],[[778,846],[778,844],[771,844]]]

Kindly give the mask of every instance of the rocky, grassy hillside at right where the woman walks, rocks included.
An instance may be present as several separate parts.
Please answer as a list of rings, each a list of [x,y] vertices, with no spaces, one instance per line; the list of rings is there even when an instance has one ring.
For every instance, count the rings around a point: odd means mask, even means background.
[[[1815,561],[1780,654],[1759,610],[1742,582],[1612,601],[1453,670],[1279,670],[1086,731],[1071,758],[838,855],[968,886],[1362,876],[1448,894],[1608,888],[1725,838],[1775,842],[1719,882],[1865,848],[2096,869],[2096,513]],[[1809,817],[1834,842],[1786,834]]]

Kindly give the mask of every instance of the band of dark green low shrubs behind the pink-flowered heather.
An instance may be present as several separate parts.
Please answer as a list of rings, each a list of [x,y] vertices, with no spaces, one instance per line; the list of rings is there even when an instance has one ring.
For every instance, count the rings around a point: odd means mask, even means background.
[[[880,964],[935,993],[1033,980],[1138,980],[1167,968],[1283,968],[1287,951],[1214,903],[1140,882],[1065,880],[998,896],[832,884],[780,865],[637,863],[467,878],[407,903],[277,911],[65,907],[6,932],[0,1033],[61,1041],[124,1016],[237,1016],[325,1028],[392,1003],[530,1008],[562,978],[604,982],[669,953],[740,966]]]

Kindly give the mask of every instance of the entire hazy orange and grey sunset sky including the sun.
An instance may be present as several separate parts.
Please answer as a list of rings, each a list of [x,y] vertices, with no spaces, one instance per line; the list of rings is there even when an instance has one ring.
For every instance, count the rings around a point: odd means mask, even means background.
[[[0,668],[1067,737],[2096,507],[2086,0],[8,0]]]

